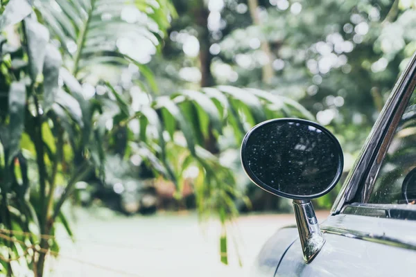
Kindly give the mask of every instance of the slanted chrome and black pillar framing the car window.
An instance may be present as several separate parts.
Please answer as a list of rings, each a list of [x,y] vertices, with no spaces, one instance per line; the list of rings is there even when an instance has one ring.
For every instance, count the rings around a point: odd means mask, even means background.
[[[379,118],[372,127],[358,159],[354,163],[352,170],[345,179],[343,187],[334,202],[331,215],[343,213],[347,206],[354,206],[355,213],[361,211],[361,207],[366,215],[368,208],[375,208],[372,204],[367,204],[368,199],[374,188],[376,177],[379,173],[385,154],[388,151],[395,131],[400,123],[401,116],[408,105],[410,96],[416,87],[416,52],[411,57],[406,69],[401,73],[396,82],[392,93],[386,101]],[[354,205],[351,205],[354,204]],[[383,205],[388,209],[388,206]],[[415,210],[416,211],[416,210]],[[385,213],[388,215],[388,213]]]

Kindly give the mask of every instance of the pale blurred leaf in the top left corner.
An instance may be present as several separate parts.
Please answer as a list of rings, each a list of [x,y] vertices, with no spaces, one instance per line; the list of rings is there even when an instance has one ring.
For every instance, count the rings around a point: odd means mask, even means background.
[[[31,12],[32,6],[27,0],[10,0],[0,17],[0,30],[19,23]]]

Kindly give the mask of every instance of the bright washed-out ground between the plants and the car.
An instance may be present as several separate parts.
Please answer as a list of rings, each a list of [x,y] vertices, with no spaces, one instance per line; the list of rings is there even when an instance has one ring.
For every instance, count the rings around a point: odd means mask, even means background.
[[[319,212],[324,220],[328,212]],[[195,213],[123,217],[110,211],[76,211],[76,243],[61,239],[52,276],[244,276],[263,242],[293,215],[244,215],[229,238],[229,266],[219,262],[217,222],[199,224]],[[239,274],[239,275],[237,275]]]

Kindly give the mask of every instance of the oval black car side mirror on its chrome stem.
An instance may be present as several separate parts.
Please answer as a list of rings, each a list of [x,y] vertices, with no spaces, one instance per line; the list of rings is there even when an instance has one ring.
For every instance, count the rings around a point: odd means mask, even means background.
[[[304,261],[324,245],[311,199],[329,193],[343,172],[343,150],[331,132],[297,118],[272,119],[245,135],[241,161],[263,190],[293,199]]]

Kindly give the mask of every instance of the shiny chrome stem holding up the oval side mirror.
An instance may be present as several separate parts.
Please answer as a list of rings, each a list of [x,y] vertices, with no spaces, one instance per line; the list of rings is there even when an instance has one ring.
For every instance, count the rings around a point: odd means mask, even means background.
[[[293,199],[293,211],[295,211],[304,262],[309,263],[322,249],[325,239],[320,231],[318,219],[310,200]]]

